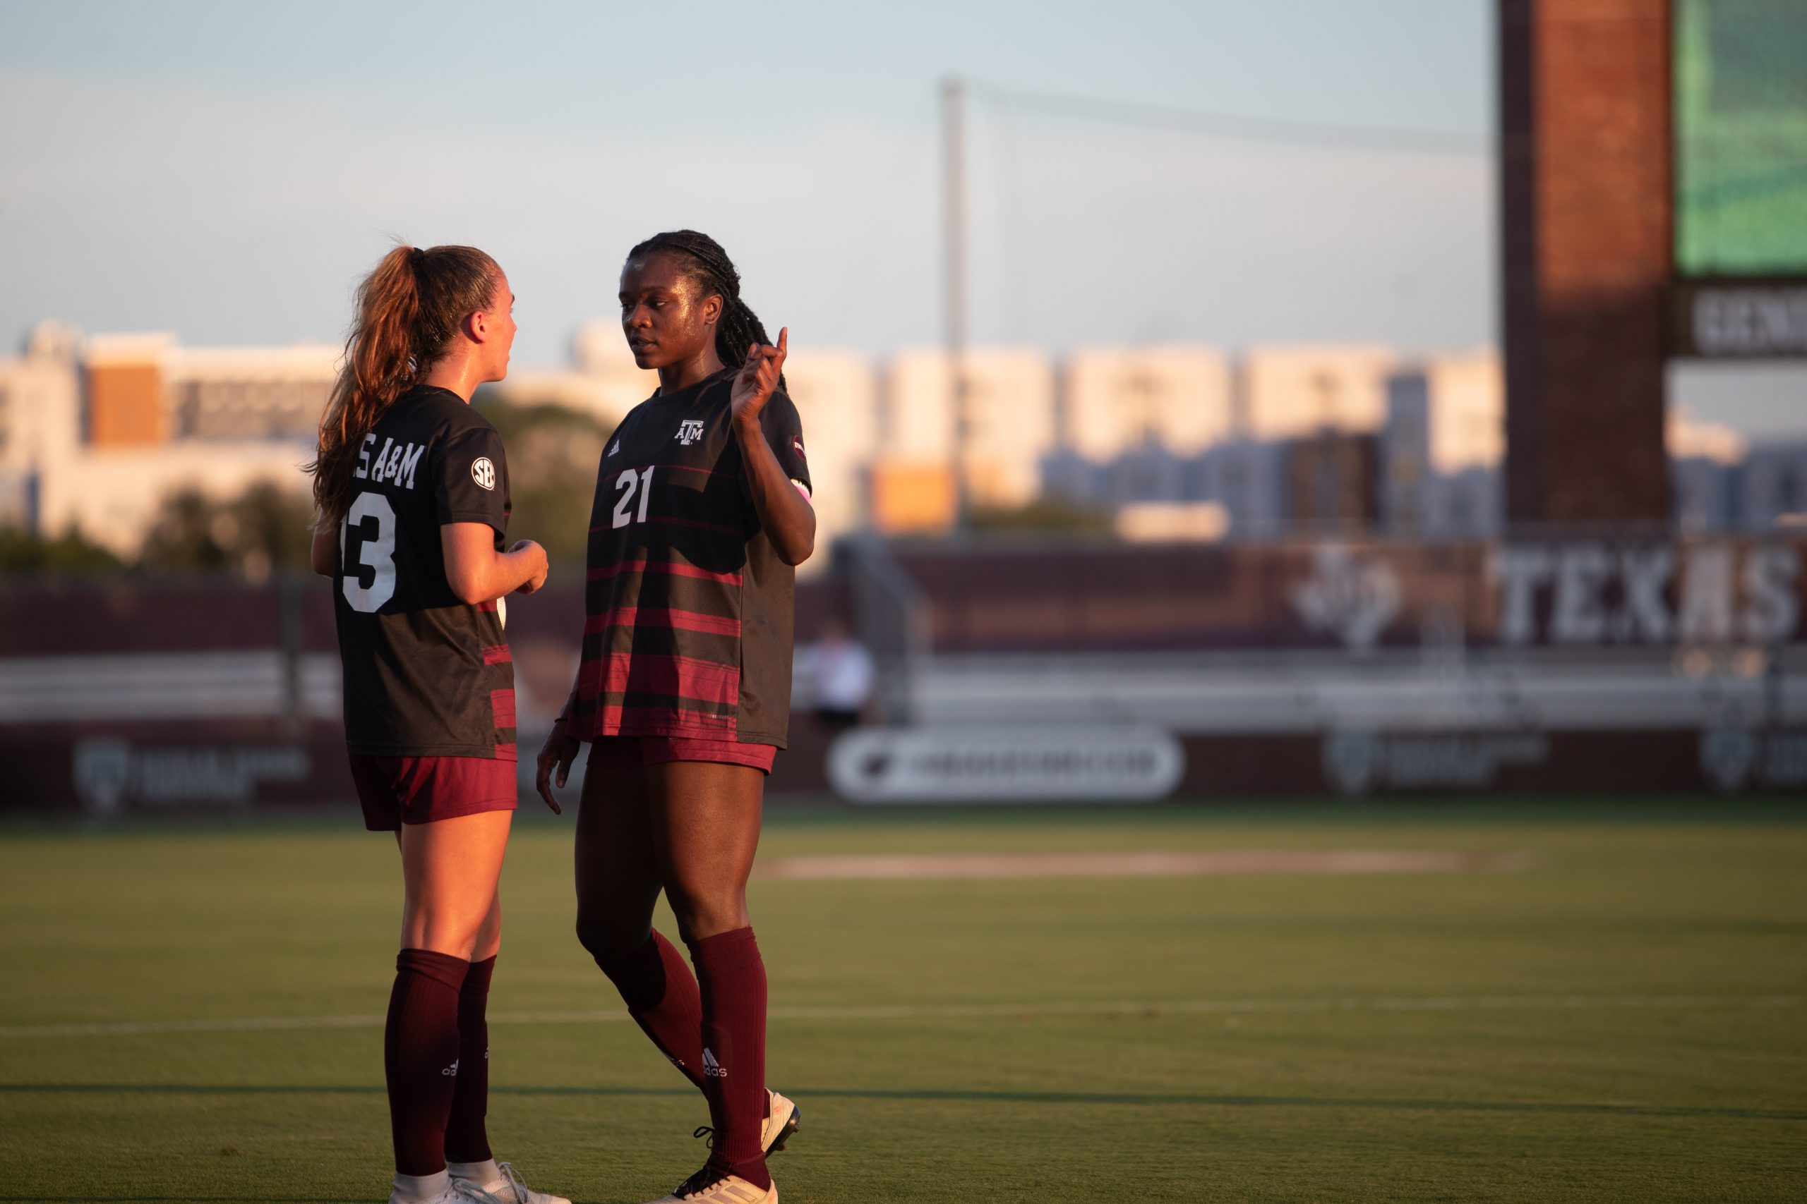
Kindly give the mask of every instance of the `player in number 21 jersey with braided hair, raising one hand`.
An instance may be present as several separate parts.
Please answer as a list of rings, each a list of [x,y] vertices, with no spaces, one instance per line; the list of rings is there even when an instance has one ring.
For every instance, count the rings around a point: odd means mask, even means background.
[[[604,444],[576,690],[538,758],[576,821],[576,931],[629,1014],[708,1099],[708,1162],[670,1200],[777,1204],[766,1153],[797,1128],[768,1092],[766,969],[746,915],[764,774],[790,722],[793,569],[815,547],[810,469],[766,345],[707,235],[641,242],[622,329],[658,392]],[[665,892],[696,977],[652,931]],[[698,1130],[701,1135],[707,1130]]]

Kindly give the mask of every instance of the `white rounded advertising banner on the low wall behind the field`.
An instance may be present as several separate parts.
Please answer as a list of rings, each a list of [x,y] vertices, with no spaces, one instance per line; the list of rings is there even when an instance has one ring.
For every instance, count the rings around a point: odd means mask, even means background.
[[[828,753],[853,803],[1153,801],[1184,774],[1185,749],[1155,727],[864,727]]]

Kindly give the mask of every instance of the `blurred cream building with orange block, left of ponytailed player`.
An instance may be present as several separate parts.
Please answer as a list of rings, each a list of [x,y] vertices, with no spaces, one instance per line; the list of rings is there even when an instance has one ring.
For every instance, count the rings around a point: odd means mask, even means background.
[[[184,348],[42,323],[0,359],[0,523],[80,529],[130,556],[173,489],[304,493],[336,359],[327,345]]]

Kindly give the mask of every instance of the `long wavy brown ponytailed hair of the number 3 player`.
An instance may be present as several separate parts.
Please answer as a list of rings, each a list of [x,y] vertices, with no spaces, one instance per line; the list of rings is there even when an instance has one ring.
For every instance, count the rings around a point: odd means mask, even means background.
[[[351,504],[351,466],[363,437],[398,397],[445,356],[466,314],[495,300],[501,269],[477,247],[398,245],[358,285],[358,320],[345,366],[320,417],[320,449],[307,471],[327,525]]]

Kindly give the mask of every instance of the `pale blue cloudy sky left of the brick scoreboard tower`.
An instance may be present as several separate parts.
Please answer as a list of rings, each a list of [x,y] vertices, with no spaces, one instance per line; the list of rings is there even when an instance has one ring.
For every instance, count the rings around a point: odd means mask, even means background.
[[[338,338],[389,236],[473,242],[517,363],[694,226],[797,345],[940,332],[936,81],[1485,137],[1485,0],[0,0],[0,338]],[[1493,168],[976,105],[972,334],[1493,339]]]

